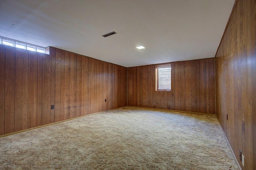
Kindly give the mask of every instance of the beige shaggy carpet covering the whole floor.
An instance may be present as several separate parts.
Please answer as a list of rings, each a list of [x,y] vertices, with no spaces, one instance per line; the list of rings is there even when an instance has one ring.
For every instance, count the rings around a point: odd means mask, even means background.
[[[123,107],[0,138],[0,169],[238,169],[215,115]]]

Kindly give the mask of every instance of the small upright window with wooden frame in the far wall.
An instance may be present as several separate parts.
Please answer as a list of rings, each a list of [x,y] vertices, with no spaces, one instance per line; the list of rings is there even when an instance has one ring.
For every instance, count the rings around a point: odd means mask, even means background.
[[[156,66],[156,90],[171,91],[171,64]]]

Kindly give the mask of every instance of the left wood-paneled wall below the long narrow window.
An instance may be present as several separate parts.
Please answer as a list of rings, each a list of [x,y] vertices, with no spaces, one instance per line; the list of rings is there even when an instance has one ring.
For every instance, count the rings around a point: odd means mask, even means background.
[[[0,45],[0,135],[126,106],[126,75],[52,47],[46,55]]]

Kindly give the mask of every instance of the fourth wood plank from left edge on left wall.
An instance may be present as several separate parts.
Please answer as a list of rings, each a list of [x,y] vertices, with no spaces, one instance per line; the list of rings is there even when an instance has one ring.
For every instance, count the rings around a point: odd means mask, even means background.
[[[28,128],[37,126],[37,53],[28,53]]]

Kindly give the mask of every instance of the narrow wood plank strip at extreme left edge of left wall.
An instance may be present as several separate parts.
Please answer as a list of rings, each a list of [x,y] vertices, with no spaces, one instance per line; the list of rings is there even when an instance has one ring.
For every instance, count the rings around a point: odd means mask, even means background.
[[[0,45],[0,135],[4,135],[5,47]]]

